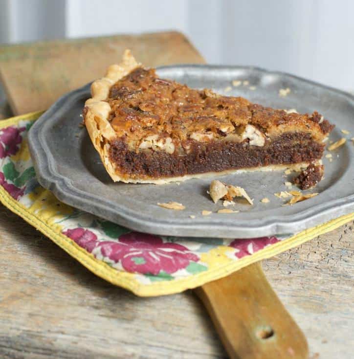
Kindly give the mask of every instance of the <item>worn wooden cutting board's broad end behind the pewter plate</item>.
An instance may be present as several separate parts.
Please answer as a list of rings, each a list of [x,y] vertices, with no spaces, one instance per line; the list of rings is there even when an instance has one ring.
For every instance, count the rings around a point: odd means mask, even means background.
[[[0,80],[15,115],[47,109],[59,96],[101,77],[130,47],[147,66],[203,63],[178,32],[117,35],[0,47]]]

